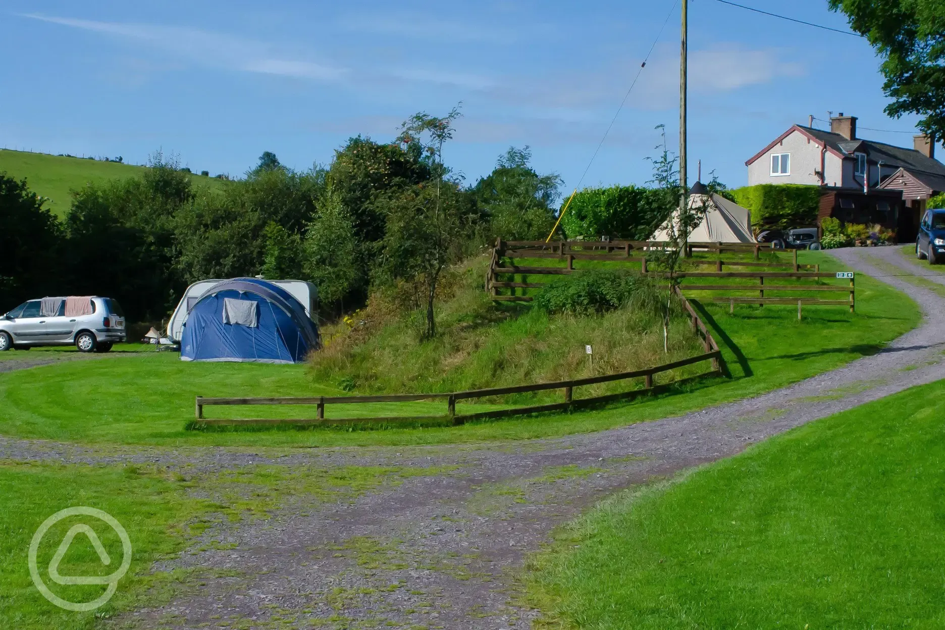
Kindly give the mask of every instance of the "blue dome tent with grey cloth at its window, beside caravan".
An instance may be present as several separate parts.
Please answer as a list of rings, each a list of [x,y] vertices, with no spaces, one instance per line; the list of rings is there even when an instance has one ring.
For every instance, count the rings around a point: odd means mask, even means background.
[[[318,329],[299,300],[272,282],[234,278],[206,291],[187,315],[181,361],[299,363]]]

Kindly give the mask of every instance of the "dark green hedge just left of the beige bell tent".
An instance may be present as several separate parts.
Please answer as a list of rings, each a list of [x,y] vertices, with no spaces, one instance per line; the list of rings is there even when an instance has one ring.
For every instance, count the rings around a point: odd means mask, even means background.
[[[675,201],[667,200],[666,195],[665,191],[642,186],[585,188],[571,201],[561,219],[561,229],[569,239],[606,235],[643,241],[666,219],[665,209],[674,206]]]

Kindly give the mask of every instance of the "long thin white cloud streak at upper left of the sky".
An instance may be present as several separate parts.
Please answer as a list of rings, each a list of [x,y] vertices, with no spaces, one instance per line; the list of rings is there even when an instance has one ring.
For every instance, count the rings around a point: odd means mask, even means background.
[[[336,80],[348,72],[346,68],[313,60],[284,59],[274,46],[266,43],[194,28],[98,22],[36,13],[22,17],[127,38],[175,57],[227,70],[317,80]]]

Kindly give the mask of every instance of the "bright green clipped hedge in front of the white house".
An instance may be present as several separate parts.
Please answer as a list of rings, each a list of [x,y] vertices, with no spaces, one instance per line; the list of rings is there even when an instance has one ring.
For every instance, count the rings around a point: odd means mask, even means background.
[[[758,184],[732,191],[735,203],[751,211],[755,229],[814,226],[820,187],[805,184]]]

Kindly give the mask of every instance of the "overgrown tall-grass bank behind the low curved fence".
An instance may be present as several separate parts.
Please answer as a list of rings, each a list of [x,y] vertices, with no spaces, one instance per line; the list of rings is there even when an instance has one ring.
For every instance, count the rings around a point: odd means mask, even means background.
[[[486,294],[487,261],[453,270],[438,307],[439,334],[421,340],[421,314],[409,291],[372,296],[351,326],[336,327],[325,349],[311,358],[315,379],[363,393],[444,392],[580,378],[656,366],[702,351],[681,315],[662,349],[658,309],[632,300],[600,314],[549,315],[529,305],[494,306]],[[407,298],[404,298],[404,295]],[[585,346],[593,348],[588,355]],[[666,382],[704,371],[687,366],[662,374]],[[582,387],[585,397],[631,387]],[[541,400],[559,393],[527,394],[508,401]]]

